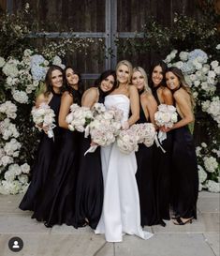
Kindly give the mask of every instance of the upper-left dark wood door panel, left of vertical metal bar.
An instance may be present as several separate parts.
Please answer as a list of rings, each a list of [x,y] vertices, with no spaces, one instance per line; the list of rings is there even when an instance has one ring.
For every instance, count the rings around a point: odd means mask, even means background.
[[[26,0],[14,0],[13,10],[23,8]],[[105,31],[103,0],[29,0],[38,29],[46,31]]]

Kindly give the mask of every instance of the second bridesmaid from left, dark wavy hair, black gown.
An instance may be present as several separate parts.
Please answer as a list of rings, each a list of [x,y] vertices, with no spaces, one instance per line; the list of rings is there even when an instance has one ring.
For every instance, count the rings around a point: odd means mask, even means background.
[[[68,130],[66,115],[71,104],[81,104],[81,76],[74,69],[65,69],[67,90],[61,98],[59,126],[63,128],[58,154],[51,163],[39,208],[33,218],[44,220],[46,227],[54,224],[73,225],[76,193],[76,178],[79,169],[79,147],[81,136],[78,131]]]

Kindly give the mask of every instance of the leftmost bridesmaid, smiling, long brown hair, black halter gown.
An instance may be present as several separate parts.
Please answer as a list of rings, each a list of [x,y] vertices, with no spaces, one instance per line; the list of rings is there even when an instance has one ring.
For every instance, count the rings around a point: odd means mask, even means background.
[[[36,106],[45,102],[49,104],[55,113],[55,125],[53,128],[54,141],[47,135],[47,128],[41,134],[40,143],[37,149],[37,156],[32,168],[32,179],[29,188],[22,198],[19,208],[22,210],[34,211],[37,207],[37,198],[42,186],[48,176],[49,166],[54,152],[60,147],[61,129],[58,126],[58,114],[61,102],[61,92],[64,89],[64,71],[62,68],[52,65],[45,78],[46,90],[36,100]]]

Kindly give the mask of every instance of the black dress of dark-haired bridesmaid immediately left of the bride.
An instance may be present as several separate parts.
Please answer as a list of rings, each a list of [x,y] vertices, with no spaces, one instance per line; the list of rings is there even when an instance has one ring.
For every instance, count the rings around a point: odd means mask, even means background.
[[[99,90],[99,103],[104,103],[104,94]],[[101,168],[100,146],[94,153],[84,156],[90,147],[91,138],[82,138],[80,169],[76,188],[74,227],[88,224],[95,229],[101,217],[104,185]]]

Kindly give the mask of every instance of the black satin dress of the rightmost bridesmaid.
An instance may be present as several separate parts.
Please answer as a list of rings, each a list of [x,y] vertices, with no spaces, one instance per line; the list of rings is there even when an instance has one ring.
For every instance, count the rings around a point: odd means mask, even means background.
[[[172,166],[173,211],[181,218],[197,218],[198,163],[188,126],[173,129]]]

